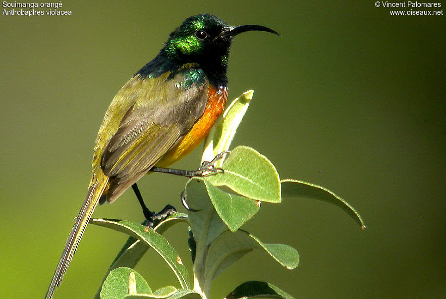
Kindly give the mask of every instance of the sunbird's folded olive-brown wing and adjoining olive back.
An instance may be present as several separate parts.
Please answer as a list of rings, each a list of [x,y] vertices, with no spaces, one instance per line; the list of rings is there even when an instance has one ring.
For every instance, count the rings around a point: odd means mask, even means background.
[[[180,142],[207,104],[207,84],[180,88],[181,74],[167,80],[137,80],[136,89],[128,91],[136,97],[134,103],[101,156],[101,168],[110,178],[108,201],[116,199]]]

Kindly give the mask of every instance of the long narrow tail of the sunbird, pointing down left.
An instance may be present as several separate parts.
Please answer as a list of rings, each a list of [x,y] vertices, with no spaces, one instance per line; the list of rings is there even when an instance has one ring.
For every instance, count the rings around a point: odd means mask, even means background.
[[[60,256],[59,263],[57,264],[56,271],[53,279],[51,280],[50,287],[48,287],[47,295],[45,299],[53,298],[55,289],[60,285],[63,274],[70,265],[74,252],[79,245],[79,242],[87,227],[88,221],[99,202],[99,199],[107,186],[108,178],[103,173],[95,174],[96,177],[92,179],[92,183],[88,188],[87,196],[82,204],[82,207],[77,215],[76,222],[66,240],[65,248],[63,249],[62,256]]]

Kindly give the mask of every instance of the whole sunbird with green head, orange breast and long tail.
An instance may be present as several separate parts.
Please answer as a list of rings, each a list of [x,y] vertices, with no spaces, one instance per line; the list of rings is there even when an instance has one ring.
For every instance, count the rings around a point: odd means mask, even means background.
[[[136,182],[148,172],[168,172],[165,167],[209,134],[227,100],[232,38],[254,30],[279,35],[259,25],[228,26],[210,14],[189,17],[170,33],[158,55],[119,90],[99,129],[87,196],[45,299],[51,299],[60,285],[98,203],[111,203],[132,186],[145,217],[158,216],[144,205]]]

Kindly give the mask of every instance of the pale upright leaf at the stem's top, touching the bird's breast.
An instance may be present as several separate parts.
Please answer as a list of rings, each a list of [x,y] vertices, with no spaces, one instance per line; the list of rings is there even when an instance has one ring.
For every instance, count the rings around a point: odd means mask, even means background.
[[[237,131],[254,91],[249,90],[233,100],[223,113],[223,118],[215,125],[214,133],[205,141],[202,161],[211,161],[217,154],[228,150]],[[215,167],[221,167],[224,158],[215,163]]]

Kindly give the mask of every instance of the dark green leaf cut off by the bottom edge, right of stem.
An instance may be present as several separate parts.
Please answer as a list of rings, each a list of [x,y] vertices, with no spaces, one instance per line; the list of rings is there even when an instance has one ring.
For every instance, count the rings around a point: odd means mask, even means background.
[[[241,299],[252,297],[273,297],[283,299],[294,299],[291,295],[283,292],[275,285],[262,281],[248,281],[242,283],[224,299]]]

